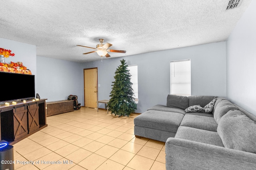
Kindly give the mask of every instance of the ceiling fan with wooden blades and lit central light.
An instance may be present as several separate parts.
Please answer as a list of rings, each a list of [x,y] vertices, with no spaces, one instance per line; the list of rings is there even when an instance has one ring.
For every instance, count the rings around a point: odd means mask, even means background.
[[[90,48],[90,49],[97,49],[96,51],[91,51],[91,52],[83,53],[83,54],[90,54],[90,53],[96,52],[100,57],[103,57],[103,56],[110,57],[110,55],[108,54],[108,52],[126,53],[126,51],[124,51],[124,50],[112,50],[112,49],[108,49],[109,47],[112,46],[112,44],[110,44],[110,43],[102,44],[103,41],[104,41],[104,39],[99,39],[99,40],[100,40],[100,44],[97,44],[97,45],[96,45],[96,48],[87,47],[87,48]],[[77,46],[86,47],[86,46],[83,46],[83,45],[77,45]]]

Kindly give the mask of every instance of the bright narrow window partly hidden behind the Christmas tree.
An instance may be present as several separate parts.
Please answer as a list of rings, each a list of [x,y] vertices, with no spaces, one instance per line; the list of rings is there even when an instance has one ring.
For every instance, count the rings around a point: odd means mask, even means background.
[[[130,65],[128,66],[128,70],[130,71],[132,89],[134,92],[135,103],[138,103],[138,65]]]

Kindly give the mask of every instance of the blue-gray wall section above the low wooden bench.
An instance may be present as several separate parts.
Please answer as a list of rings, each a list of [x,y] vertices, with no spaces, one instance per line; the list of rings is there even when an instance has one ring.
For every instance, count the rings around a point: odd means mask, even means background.
[[[37,93],[47,102],[66,100],[70,94],[82,102],[84,80],[80,63],[37,56]],[[81,103],[83,105],[83,103]]]

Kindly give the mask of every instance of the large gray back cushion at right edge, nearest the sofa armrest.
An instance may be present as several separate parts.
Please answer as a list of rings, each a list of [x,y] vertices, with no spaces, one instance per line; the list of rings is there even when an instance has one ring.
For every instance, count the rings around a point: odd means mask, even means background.
[[[226,148],[256,153],[256,123],[240,110],[228,111],[217,131]]]

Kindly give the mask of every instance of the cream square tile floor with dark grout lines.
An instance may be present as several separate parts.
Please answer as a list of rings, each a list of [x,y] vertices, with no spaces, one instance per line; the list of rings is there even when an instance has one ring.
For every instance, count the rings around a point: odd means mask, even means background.
[[[136,116],[81,107],[47,117],[48,127],[13,145],[15,170],[165,170],[165,143],[136,138]]]

